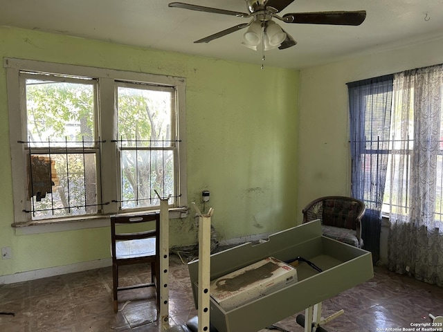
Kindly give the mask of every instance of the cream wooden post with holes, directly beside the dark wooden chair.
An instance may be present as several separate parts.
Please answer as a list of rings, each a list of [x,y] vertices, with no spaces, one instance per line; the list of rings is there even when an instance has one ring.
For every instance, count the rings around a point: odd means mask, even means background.
[[[160,313],[161,319],[161,331],[167,330],[169,325],[169,208],[168,198],[161,198],[159,193],[156,192],[160,199],[160,276],[161,284],[158,285],[160,296]]]

